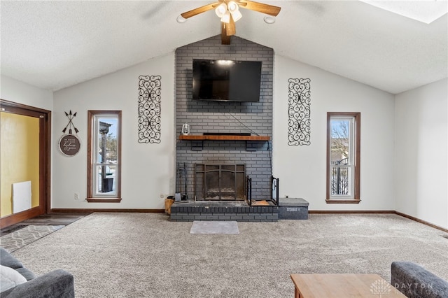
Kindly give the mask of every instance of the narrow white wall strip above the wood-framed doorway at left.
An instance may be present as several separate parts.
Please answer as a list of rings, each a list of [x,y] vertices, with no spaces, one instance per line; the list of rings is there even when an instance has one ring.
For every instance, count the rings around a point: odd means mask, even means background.
[[[52,111],[53,92],[31,86],[7,76],[1,76],[0,85],[1,99]]]

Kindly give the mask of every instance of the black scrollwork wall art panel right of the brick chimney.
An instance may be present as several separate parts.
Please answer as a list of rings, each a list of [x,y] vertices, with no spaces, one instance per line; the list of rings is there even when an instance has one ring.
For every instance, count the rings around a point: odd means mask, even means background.
[[[288,145],[311,144],[309,78],[290,78],[288,80]]]

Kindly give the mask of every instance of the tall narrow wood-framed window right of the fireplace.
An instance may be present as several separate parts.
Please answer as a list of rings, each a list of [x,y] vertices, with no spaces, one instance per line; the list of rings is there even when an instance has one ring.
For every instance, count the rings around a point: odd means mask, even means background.
[[[327,203],[360,201],[360,113],[327,113]]]

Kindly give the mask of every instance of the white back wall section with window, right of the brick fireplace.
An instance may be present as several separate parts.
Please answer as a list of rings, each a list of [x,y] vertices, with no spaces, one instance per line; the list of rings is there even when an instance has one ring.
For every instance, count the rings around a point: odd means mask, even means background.
[[[311,145],[288,146],[288,79],[311,79]],[[395,210],[392,94],[276,55],[273,171],[280,197],[302,197],[309,210]],[[361,113],[360,204],[326,204],[326,113]]]

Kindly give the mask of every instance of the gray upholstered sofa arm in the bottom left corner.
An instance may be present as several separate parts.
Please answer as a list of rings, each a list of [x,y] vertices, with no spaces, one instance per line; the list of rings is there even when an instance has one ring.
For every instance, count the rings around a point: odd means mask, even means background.
[[[1,298],[75,297],[73,276],[62,269],[38,276],[1,293]]]

